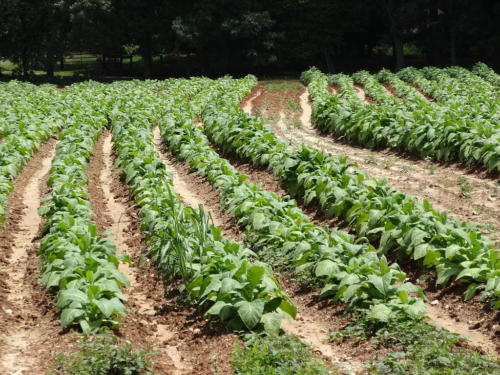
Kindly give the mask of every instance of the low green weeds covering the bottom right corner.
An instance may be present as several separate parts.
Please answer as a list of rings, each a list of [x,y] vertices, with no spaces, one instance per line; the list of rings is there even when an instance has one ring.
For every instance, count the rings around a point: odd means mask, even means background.
[[[332,341],[371,340],[374,346],[391,348],[382,359],[371,362],[376,375],[489,375],[500,373],[494,359],[467,347],[463,337],[425,321],[396,320],[376,327],[358,317]]]

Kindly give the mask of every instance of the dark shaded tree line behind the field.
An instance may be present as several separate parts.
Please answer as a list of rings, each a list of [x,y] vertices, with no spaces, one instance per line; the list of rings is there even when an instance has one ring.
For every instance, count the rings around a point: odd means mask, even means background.
[[[64,56],[142,74],[295,72],[500,61],[495,0],[0,0],[0,59],[50,76]],[[168,60],[168,59],[167,59]]]

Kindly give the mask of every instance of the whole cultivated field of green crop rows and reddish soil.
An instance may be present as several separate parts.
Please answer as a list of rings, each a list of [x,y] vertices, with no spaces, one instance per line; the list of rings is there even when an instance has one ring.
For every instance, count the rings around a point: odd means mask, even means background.
[[[0,83],[0,373],[500,373],[498,77]]]

